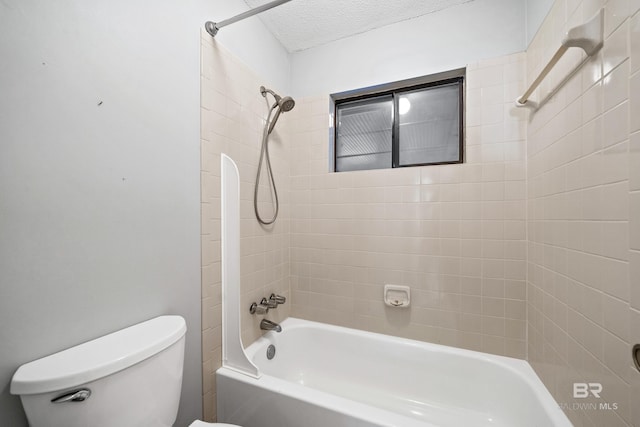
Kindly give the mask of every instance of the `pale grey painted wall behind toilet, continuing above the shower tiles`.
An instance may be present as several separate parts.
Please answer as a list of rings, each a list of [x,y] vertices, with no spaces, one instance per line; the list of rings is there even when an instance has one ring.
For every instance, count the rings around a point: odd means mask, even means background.
[[[200,34],[242,11],[213,3],[0,2],[3,426],[27,425],[19,365],[166,313],[188,326],[176,425],[202,415]],[[288,80],[259,21],[219,38]]]

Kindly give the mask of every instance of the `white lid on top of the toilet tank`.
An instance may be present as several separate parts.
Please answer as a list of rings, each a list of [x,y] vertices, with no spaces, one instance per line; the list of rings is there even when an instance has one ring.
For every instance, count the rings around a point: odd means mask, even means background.
[[[161,352],[186,330],[181,316],[160,316],[34,360],[13,375],[11,394],[48,393],[95,381]]]

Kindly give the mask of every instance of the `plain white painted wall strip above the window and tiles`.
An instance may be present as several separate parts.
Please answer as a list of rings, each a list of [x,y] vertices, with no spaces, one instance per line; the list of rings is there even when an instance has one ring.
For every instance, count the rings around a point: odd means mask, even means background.
[[[525,9],[524,0],[475,0],[294,53],[291,90],[342,92],[522,52]]]

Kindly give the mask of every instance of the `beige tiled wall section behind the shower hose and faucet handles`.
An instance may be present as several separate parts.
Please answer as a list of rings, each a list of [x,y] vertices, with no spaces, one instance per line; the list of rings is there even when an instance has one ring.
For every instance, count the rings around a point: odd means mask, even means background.
[[[220,153],[228,154],[240,171],[241,313],[246,345],[261,335],[261,317],[249,314],[250,303],[272,292],[289,297],[289,143],[288,118],[283,114],[269,143],[280,213],[275,226],[261,227],[254,216],[253,188],[268,111],[259,88],[269,85],[206,33],[201,46],[203,398],[204,419],[214,421],[214,373],[221,365],[222,339]],[[273,211],[266,183],[263,173],[259,205],[263,216],[270,218]],[[285,304],[266,317],[280,321],[288,315],[289,305]]]

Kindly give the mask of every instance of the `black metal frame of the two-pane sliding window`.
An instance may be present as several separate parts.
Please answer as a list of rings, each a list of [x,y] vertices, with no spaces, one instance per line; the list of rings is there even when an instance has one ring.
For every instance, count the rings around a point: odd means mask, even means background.
[[[435,165],[447,165],[464,163],[465,160],[465,80],[466,80],[466,68],[458,68],[451,71],[445,71],[437,74],[430,74],[428,76],[417,77],[413,79],[401,80],[393,83],[382,84],[378,86],[371,86],[362,89],[356,89],[346,92],[340,92],[331,94],[331,110],[333,115],[332,126],[333,132],[331,132],[330,150],[333,156],[331,165],[332,172],[357,172],[358,170],[339,171],[337,170],[338,164],[338,150],[336,144],[338,143],[338,107],[341,104],[348,102],[362,101],[367,99],[373,99],[377,97],[391,96],[393,99],[393,124],[391,131],[391,165],[384,169],[396,169],[407,168],[415,166],[435,166]],[[400,96],[405,92],[414,92],[430,87],[445,86],[449,84],[457,83],[460,85],[459,90],[459,120],[458,120],[458,132],[459,132],[459,146],[458,146],[458,159],[453,161],[442,162],[430,162],[430,163],[411,163],[400,164],[400,120],[397,112],[399,111]],[[378,169],[361,169],[378,170]]]

